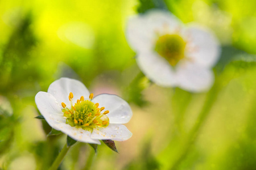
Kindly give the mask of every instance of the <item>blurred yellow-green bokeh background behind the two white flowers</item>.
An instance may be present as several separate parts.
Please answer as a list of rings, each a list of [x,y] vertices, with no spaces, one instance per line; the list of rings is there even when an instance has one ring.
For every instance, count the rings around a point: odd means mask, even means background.
[[[66,136],[35,119],[34,97],[54,80],[81,80],[133,109],[133,137],[71,148],[59,169],[256,169],[256,1],[0,1],[0,168],[48,169]],[[222,46],[218,94],[189,135],[209,93],[163,88],[139,70],[126,41],[131,15],[158,8],[212,29]],[[186,141],[191,142],[186,142]]]

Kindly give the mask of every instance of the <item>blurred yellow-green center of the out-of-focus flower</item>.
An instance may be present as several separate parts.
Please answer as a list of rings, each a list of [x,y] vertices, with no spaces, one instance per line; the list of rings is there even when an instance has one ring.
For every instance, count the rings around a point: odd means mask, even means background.
[[[179,35],[160,36],[155,44],[155,51],[164,57],[171,66],[176,66],[180,59],[184,58],[186,42]]]

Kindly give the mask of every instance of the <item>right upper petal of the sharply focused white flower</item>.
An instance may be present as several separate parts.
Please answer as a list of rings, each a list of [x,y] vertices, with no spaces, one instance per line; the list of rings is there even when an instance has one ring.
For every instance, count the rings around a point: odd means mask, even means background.
[[[117,95],[101,94],[94,97],[92,101],[99,103],[99,107],[105,107],[104,111],[109,111],[107,116],[110,124],[126,124],[133,116],[129,104]]]

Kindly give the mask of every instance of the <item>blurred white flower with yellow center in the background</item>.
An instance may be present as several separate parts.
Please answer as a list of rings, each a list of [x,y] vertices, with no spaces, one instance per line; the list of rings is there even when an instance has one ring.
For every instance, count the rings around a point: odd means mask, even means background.
[[[212,86],[211,68],[220,47],[207,29],[185,26],[169,12],[152,10],[129,20],[127,40],[142,72],[159,86],[192,92]]]

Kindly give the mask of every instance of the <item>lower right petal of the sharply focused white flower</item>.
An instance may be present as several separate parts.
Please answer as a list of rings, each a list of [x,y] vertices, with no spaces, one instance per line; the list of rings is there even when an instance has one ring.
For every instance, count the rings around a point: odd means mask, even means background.
[[[114,141],[126,141],[133,134],[125,125],[109,124],[106,128],[93,129],[91,138],[93,139],[111,139]]]

